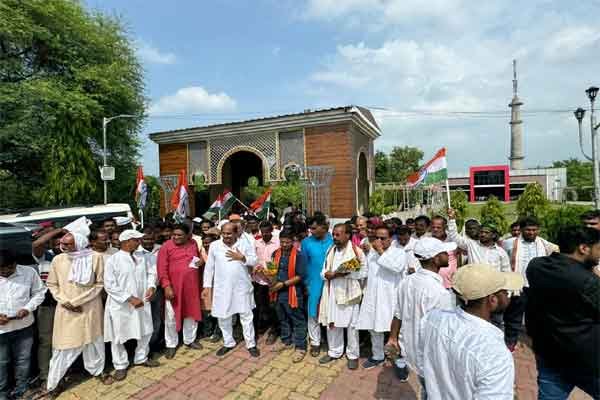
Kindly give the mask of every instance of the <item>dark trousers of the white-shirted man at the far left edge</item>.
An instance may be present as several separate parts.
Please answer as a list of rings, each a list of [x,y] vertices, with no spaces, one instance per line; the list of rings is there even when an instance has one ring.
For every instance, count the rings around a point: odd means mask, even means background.
[[[8,369],[11,365],[15,374],[14,397],[27,390],[32,347],[32,326],[0,335],[0,399],[8,398]]]

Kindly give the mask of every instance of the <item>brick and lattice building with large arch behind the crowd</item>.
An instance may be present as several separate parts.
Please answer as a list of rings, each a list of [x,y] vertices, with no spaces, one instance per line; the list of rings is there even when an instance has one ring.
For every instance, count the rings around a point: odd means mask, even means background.
[[[375,181],[373,141],[380,134],[369,110],[346,106],[156,132],[150,138],[159,147],[162,181],[182,169],[190,176],[194,214],[225,189],[239,197],[250,177],[275,184],[293,169],[315,187],[310,175],[322,167],[333,175],[318,192],[328,192],[332,217],[347,218],[368,208]],[[208,191],[194,193],[198,176]]]

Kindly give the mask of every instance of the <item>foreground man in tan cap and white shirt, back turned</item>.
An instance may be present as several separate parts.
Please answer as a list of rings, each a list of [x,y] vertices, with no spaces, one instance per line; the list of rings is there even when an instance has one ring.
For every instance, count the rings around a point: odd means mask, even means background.
[[[514,398],[513,357],[491,319],[508,307],[509,291],[523,283],[521,274],[485,264],[465,265],[454,274],[452,289],[464,305],[432,310],[421,322],[417,364],[429,398]]]

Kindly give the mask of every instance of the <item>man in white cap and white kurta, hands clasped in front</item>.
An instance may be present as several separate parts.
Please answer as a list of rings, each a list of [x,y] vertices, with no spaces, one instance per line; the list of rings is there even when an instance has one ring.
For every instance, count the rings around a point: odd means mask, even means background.
[[[137,340],[134,364],[156,367],[148,358],[152,337],[150,299],[156,290],[156,269],[146,257],[134,254],[144,234],[127,229],[119,235],[121,249],[106,263],[104,289],[108,293],[104,312],[104,341],[111,342],[114,378],[125,379],[129,360],[125,342]]]

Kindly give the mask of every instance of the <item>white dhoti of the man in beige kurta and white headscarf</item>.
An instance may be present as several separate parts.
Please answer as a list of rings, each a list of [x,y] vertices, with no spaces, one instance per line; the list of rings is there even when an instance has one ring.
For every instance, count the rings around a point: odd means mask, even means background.
[[[48,371],[48,391],[56,389],[69,367],[79,355],[83,355],[83,365],[92,376],[99,376],[104,371],[104,338],[98,337],[95,342],[81,347],[66,350],[52,350]]]

